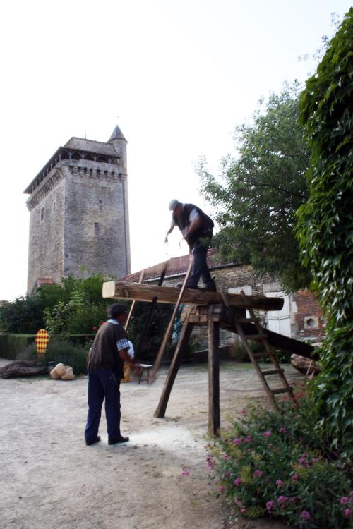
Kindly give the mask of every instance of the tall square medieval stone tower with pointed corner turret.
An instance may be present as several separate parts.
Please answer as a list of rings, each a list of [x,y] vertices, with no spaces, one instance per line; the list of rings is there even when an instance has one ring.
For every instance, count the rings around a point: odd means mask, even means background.
[[[28,292],[86,271],[130,272],[126,139],[71,138],[49,159],[28,193]]]

